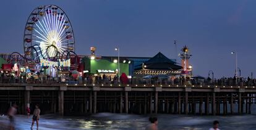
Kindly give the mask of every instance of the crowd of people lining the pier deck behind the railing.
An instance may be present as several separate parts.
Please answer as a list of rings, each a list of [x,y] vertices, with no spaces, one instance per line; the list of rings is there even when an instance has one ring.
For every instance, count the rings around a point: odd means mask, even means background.
[[[187,78],[183,76],[177,76],[176,78],[163,78],[153,76],[151,78],[127,78],[126,75],[117,76],[82,76],[81,78],[73,78],[72,75],[59,76],[59,78],[53,78],[50,75],[40,76],[33,75],[30,78],[26,76],[14,77],[12,75],[2,74],[0,75],[0,83],[77,83],[77,84],[169,84],[169,85],[184,85],[190,84],[195,86],[203,85],[216,85],[216,86],[256,86],[255,78],[236,78],[223,77],[220,79],[208,78]]]

